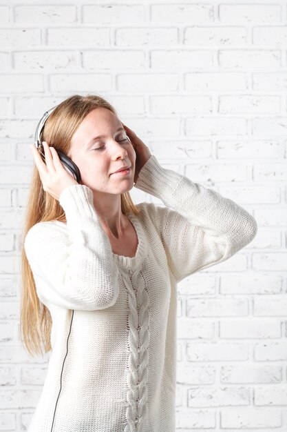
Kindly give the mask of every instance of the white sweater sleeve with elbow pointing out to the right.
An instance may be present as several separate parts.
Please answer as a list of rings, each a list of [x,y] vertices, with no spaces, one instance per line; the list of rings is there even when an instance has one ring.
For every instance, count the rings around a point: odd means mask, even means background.
[[[163,168],[154,155],[142,166],[134,186],[167,206],[150,206],[151,217],[177,282],[230,258],[257,233],[254,217],[244,208]]]

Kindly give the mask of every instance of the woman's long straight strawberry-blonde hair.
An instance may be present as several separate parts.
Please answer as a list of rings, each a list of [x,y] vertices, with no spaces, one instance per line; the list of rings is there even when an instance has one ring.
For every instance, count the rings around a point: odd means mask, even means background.
[[[72,95],[57,106],[45,121],[41,133],[41,141],[69,155],[70,143],[74,132],[90,111],[103,107],[111,110],[118,117],[116,109],[108,101],[98,95]],[[123,214],[132,212],[136,215],[140,210],[134,205],[129,192],[121,194]],[[39,300],[32,270],[24,249],[25,236],[37,222],[59,220],[66,222],[65,212],[57,199],[43,190],[39,170],[34,164],[32,180],[28,194],[28,203],[24,215],[21,235],[21,302],[20,302],[20,337],[24,348],[30,355],[43,355],[50,351],[50,334],[52,317],[49,309]]]

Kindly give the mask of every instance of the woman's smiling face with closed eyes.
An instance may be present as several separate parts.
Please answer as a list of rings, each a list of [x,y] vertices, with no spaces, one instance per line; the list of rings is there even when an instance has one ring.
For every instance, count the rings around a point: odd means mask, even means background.
[[[107,108],[95,108],[83,119],[68,156],[80,170],[81,184],[92,190],[121,194],[134,186],[136,152],[123,124]],[[114,174],[123,166],[131,166],[128,174]]]

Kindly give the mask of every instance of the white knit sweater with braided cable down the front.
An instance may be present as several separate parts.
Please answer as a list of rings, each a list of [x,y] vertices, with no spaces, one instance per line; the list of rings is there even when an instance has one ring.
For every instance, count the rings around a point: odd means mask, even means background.
[[[127,216],[134,257],[116,255],[93,193],[65,188],[67,224],[25,237],[39,299],[52,315],[52,352],[29,432],[174,432],[176,284],[251,242],[255,219],[231,199],[162,168],[154,155],[134,185],[162,199]]]

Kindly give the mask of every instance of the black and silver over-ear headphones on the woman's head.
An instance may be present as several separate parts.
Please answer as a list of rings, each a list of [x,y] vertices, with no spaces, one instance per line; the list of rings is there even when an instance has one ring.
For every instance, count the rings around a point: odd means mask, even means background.
[[[47,118],[49,117],[49,115],[51,114],[52,111],[54,111],[54,109],[57,107],[53,106],[53,108],[50,108],[50,110],[47,110],[44,114],[43,117],[41,118],[41,120],[39,121],[36,130],[35,130],[35,135],[34,135],[34,146],[36,146],[36,149],[39,151],[39,153],[41,154],[41,157],[43,159],[43,161],[45,162],[45,153],[43,151],[43,144],[41,141],[41,132],[45,126],[45,121],[47,120]],[[129,137],[127,136],[127,139],[129,140],[129,142],[131,142],[131,140],[129,139]],[[56,150],[56,148],[55,148]],[[76,164],[72,161],[72,159],[70,159],[70,157],[68,157],[67,155],[65,155],[65,153],[61,152],[60,150],[56,150],[56,153],[59,156],[59,159],[61,160],[63,167],[65,168],[65,170],[67,170],[67,172],[69,174],[72,174],[72,176],[74,177],[74,179],[80,183],[81,181],[81,173],[80,170],[78,169],[78,166],[76,166]]]

